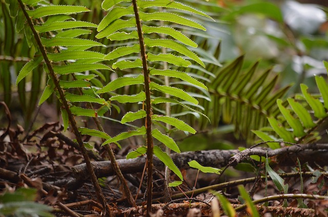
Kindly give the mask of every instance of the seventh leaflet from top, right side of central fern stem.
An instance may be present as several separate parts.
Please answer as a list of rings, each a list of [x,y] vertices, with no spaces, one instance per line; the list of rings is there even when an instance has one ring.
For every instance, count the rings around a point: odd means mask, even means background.
[[[165,94],[170,94],[172,96],[178,97],[180,99],[186,100],[188,102],[198,104],[197,99],[187,94],[185,91],[180,90],[178,88],[174,88],[173,86],[165,86],[165,85],[159,85],[155,82],[150,82],[150,89],[151,90],[157,90]]]

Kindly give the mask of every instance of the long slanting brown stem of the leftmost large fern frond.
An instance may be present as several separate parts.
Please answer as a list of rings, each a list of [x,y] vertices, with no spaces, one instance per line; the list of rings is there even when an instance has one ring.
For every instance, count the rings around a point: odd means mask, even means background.
[[[69,108],[69,103],[68,103],[68,101],[65,98],[64,90],[61,89],[61,87],[59,85],[59,80],[58,80],[58,78],[57,78],[57,76],[56,76],[56,74],[55,74],[55,72],[53,70],[51,61],[48,58],[47,51],[46,51],[45,47],[42,44],[42,41],[40,39],[40,36],[38,35],[38,33],[36,32],[36,30],[34,28],[32,19],[30,18],[30,16],[26,12],[25,5],[23,4],[22,0],[18,0],[18,3],[20,5],[20,8],[22,8],[22,11],[23,11],[23,13],[24,13],[24,15],[25,15],[25,17],[27,19],[27,22],[28,22],[28,24],[29,24],[29,26],[30,26],[30,28],[32,30],[32,33],[33,33],[33,36],[34,36],[35,41],[37,43],[37,46],[40,49],[40,52],[42,53],[42,56],[43,56],[43,58],[44,58],[44,60],[46,62],[47,68],[49,70],[49,75],[50,75],[51,79],[53,80],[53,82],[55,84],[55,87],[56,87],[56,89],[58,91],[60,100],[63,103],[63,105],[65,107],[65,110],[66,110],[66,112],[68,114],[68,118],[69,118],[69,121],[71,123],[72,129],[73,129],[73,132],[74,132],[74,135],[76,136],[77,143],[79,144],[79,147],[81,149],[81,153],[82,153],[82,155],[83,155],[83,157],[84,157],[84,159],[86,161],[86,165],[87,165],[88,171],[90,172],[91,180],[92,180],[92,183],[93,183],[94,188],[95,188],[95,191],[96,191],[97,199],[102,203],[102,205],[103,205],[103,211],[105,213],[106,213],[106,211],[108,211],[108,214],[110,216],[112,216],[112,213],[111,213],[111,211],[110,211],[110,209],[108,207],[108,204],[107,204],[107,202],[105,200],[104,194],[101,191],[101,188],[100,188],[100,185],[98,183],[97,177],[96,177],[96,175],[94,173],[94,170],[93,170],[93,167],[92,167],[90,158],[89,158],[88,153],[87,153],[87,149],[84,146],[84,143],[83,143],[81,134],[78,131],[76,121],[74,119],[74,116],[73,116],[70,108]]]

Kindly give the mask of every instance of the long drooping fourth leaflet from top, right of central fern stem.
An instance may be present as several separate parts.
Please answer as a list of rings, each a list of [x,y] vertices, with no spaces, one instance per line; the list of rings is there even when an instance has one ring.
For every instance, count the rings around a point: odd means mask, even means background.
[[[186,48],[185,45],[181,45],[174,40],[145,38],[145,45],[148,47],[169,48],[171,50],[179,52],[180,54],[188,56],[189,58],[198,62],[198,64],[200,64],[202,67],[205,67],[205,64],[199,59],[199,57],[196,54],[194,54],[194,52],[192,52],[188,48]]]

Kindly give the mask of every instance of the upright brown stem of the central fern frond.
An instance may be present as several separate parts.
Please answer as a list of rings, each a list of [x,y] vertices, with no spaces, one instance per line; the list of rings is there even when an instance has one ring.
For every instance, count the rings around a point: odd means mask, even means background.
[[[150,103],[150,78],[147,65],[147,55],[145,49],[144,35],[142,34],[139,10],[136,0],[132,0],[133,10],[137,25],[140,54],[142,60],[142,70],[145,78],[145,93],[146,93],[146,135],[147,135],[147,216],[150,216],[152,208],[152,193],[153,193],[153,137],[152,137],[152,108]]]

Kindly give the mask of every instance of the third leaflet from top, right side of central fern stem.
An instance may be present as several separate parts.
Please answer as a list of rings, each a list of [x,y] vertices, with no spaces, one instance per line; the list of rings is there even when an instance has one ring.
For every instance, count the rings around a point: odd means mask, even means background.
[[[177,39],[178,41],[182,42],[185,45],[188,45],[188,46],[191,46],[194,48],[197,47],[197,44],[193,40],[188,38],[182,32],[177,31],[171,27],[150,27],[150,26],[142,25],[142,31],[145,34],[150,34],[150,33],[167,34],[167,35],[170,35],[171,37]],[[138,35],[136,34],[136,36],[138,36]]]

